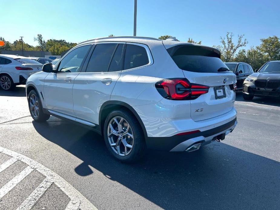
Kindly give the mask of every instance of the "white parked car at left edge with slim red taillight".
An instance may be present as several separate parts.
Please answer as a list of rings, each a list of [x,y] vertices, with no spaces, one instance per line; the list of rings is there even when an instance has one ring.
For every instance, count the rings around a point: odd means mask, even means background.
[[[0,54],[0,86],[12,90],[16,85],[25,84],[33,73],[41,71],[42,64],[27,57]]]

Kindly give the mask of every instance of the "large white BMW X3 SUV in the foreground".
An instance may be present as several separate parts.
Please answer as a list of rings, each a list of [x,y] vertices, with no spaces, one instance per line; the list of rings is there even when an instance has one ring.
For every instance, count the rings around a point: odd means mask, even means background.
[[[35,121],[87,125],[124,162],[223,140],[237,124],[235,89],[217,49],[145,37],[82,42],[26,84]]]

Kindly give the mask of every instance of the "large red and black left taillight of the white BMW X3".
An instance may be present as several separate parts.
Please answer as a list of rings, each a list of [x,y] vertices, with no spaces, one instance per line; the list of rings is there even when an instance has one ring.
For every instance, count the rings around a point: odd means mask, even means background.
[[[206,85],[192,84],[185,78],[163,79],[156,83],[156,90],[170,100],[192,100],[209,91]]]

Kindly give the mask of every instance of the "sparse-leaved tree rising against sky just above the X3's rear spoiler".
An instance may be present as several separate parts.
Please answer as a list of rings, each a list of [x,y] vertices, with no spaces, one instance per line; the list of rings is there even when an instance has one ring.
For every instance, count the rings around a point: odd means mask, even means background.
[[[232,61],[236,54],[236,51],[239,48],[245,47],[248,44],[247,39],[243,40],[244,35],[238,35],[237,44],[233,43],[232,37],[233,37],[233,33],[227,32],[226,38],[220,37],[222,45],[213,46],[221,51],[221,59],[224,62]]]

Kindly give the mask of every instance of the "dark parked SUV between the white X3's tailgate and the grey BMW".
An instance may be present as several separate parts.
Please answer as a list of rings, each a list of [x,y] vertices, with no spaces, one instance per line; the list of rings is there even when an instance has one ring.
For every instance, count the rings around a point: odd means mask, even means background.
[[[237,90],[242,90],[246,77],[254,73],[252,67],[243,62],[226,62],[225,64],[230,71],[236,74]]]

